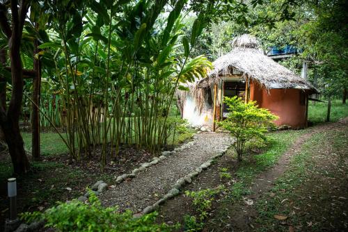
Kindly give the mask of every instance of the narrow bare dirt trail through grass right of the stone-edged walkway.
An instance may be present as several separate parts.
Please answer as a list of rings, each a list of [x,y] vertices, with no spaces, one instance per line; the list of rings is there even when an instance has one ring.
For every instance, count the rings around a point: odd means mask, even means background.
[[[253,194],[247,195],[244,198],[244,201],[234,204],[229,208],[228,212],[231,217],[228,217],[228,231],[253,231],[251,221],[253,218],[258,216],[258,213],[253,208],[253,203],[258,201],[265,192],[268,192],[274,187],[274,181],[287,171],[290,160],[292,160],[294,155],[301,151],[302,144],[315,133],[330,130],[341,125],[347,126],[347,122],[348,118],[345,118],[340,120],[340,122],[315,126],[312,129],[309,129],[308,133],[301,135],[294,142],[292,147],[290,147],[290,149],[288,149],[287,152],[278,160],[278,163],[274,167],[269,169],[267,172],[260,174],[260,176],[255,179],[251,186],[251,192],[253,192]],[[250,205],[246,204],[246,202]],[[219,231],[219,229],[216,231]]]

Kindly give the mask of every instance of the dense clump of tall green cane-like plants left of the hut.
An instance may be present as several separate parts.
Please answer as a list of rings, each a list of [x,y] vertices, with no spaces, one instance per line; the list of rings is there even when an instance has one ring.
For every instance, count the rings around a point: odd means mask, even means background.
[[[175,90],[211,68],[203,56],[190,58],[205,18],[198,13],[185,35],[186,3],[176,1],[170,13],[161,0],[31,6],[40,38],[35,56],[48,82],[41,124],[63,129],[71,160],[100,156],[104,167],[122,144],[155,152],[173,137]]]

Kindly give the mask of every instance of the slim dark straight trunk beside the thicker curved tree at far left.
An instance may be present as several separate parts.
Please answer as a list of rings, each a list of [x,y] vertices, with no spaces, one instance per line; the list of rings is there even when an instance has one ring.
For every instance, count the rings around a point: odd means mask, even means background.
[[[33,52],[35,77],[33,78],[33,104],[31,106],[31,154],[34,161],[40,160],[40,112],[38,107],[40,107],[41,63],[40,58],[35,57],[35,54],[40,51],[38,43],[38,40],[35,40]]]

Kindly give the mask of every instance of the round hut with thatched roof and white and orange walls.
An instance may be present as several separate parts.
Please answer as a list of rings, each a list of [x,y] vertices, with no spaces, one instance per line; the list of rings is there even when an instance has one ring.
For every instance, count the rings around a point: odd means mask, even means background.
[[[189,92],[178,92],[182,116],[196,126],[210,126],[228,114],[224,97],[238,96],[257,101],[279,116],[278,125],[303,128],[307,124],[309,94],[318,91],[301,76],[265,56],[251,35],[233,41],[230,53],[214,61],[207,78],[189,85]]]

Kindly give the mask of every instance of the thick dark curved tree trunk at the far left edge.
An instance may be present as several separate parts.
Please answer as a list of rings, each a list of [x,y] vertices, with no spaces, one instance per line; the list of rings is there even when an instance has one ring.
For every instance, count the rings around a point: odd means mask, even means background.
[[[24,142],[19,131],[19,115],[23,98],[23,74],[20,46],[29,1],[11,0],[0,2],[0,28],[8,40],[10,56],[12,92],[8,108],[0,106],[1,129],[8,144],[8,150],[13,163],[14,172],[26,173],[29,161],[24,150]],[[8,19],[10,10],[10,19]]]

